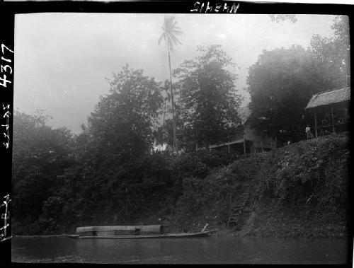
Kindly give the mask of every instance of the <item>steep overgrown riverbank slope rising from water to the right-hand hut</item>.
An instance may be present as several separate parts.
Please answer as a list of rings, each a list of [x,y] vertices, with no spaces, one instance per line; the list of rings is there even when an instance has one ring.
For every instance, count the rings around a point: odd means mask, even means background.
[[[119,210],[92,211],[87,220],[68,224],[63,219],[50,233],[28,234],[75,233],[78,226],[150,224],[161,224],[168,233],[192,233],[208,223],[208,229],[219,230],[219,235],[341,238],[348,233],[348,142],[348,133],[324,136],[268,153],[250,153],[222,168],[207,169],[195,162],[202,170],[195,172],[198,176],[182,173],[192,175],[178,179],[179,185],[164,192],[159,203],[147,204],[130,218],[123,219]],[[182,156],[178,166],[194,171],[190,159],[198,161],[201,156],[188,157]],[[245,185],[249,195],[239,222],[229,225],[230,211]]]

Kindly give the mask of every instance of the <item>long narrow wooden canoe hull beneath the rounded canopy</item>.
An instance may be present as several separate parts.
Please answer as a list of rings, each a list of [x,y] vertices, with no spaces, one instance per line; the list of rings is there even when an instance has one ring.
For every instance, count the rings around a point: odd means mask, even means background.
[[[103,238],[103,239],[146,239],[146,238],[196,238],[203,236],[210,236],[212,231],[198,232],[198,233],[164,233],[159,235],[64,235],[68,238]]]

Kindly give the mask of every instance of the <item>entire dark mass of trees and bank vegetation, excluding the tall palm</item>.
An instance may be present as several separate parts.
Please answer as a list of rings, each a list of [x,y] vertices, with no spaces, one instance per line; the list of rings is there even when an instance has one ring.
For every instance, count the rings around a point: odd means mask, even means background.
[[[300,118],[311,94],[349,81],[346,25],[345,17],[338,18],[335,37],[316,36],[311,49],[263,52],[249,73],[254,127],[279,140],[299,140],[297,129],[304,131]],[[234,231],[343,235],[346,135],[245,156],[195,151],[196,144],[227,139],[239,123],[240,103],[232,59],[219,46],[200,49],[202,56],[175,70],[173,87],[171,80],[161,86],[142,70],[124,66],[108,79],[109,93],[78,135],[52,129],[40,112],[15,111],[13,233],[72,233],[76,226],[135,223],[163,223],[170,231],[200,231],[205,223],[226,228],[231,201],[248,182],[251,212]],[[179,97],[175,117],[160,126],[171,88]],[[154,151],[156,144],[175,144],[173,126],[185,152]]]

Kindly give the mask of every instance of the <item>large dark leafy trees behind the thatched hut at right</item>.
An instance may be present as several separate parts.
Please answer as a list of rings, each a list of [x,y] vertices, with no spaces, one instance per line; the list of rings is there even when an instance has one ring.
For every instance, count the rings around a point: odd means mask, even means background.
[[[278,140],[302,139],[312,94],[350,85],[348,20],[338,16],[333,38],[314,35],[312,47],[263,51],[249,69],[251,122]],[[309,118],[309,117],[308,117]]]

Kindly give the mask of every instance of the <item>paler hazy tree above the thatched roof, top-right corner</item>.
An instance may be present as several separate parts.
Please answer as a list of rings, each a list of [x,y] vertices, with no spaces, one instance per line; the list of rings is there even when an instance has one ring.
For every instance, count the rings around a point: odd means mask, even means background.
[[[336,16],[331,28],[334,37],[314,35],[311,52],[324,90],[350,85],[349,22],[347,16]]]

